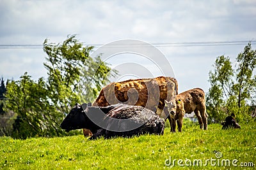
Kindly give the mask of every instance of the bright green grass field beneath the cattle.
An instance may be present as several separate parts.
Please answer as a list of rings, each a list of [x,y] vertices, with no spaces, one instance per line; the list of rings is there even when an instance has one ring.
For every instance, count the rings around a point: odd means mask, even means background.
[[[183,132],[174,134],[170,133],[169,127],[163,136],[143,135],[95,141],[88,141],[83,135],[26,140],[0,138],[0,169],[256,167],[256,122],[241,124],[241,129],[225,131],[219,124],[210,124],[208,131],[201,131],[199,125],[187,120]]]

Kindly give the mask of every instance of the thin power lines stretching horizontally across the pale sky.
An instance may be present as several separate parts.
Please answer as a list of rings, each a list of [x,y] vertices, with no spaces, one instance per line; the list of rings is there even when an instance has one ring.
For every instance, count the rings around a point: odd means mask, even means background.
[[[252,41],[201,41],[201,42],[181,42],[181,43],[152,43],[150,45],[156,46],[156,47],[175,47],[175,46],[234,46],[234,45],[245,45],[248,42],[255,44],[256,40],[252,40]],[[87,45],[87,46],[95,46],[95,47],[99,47],[99,46],[103,46],[105,44],[86,44],[83,43],[83,45]],[[134,47],[145,47],[145,46],[150,46],[147,45],[145,43],[143,44],[138,44],[138,43],[134,43],[134,44],[127,44],[127,45],[106,45],[106,48],[113,48],[113,47],[127,47],[127,46],[134,46]],[[0,49],[13,49],[13,48],[29,48],[29,49],[42,49],[43,45],[29,45],[29,44],[9,44],[9,45],[0,45]]]

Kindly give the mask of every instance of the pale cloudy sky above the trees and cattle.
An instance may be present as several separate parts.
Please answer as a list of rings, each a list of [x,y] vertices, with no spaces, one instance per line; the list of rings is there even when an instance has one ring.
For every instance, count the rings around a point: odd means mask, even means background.
[[[27,71],[35,80],[46,77],[44,40],[60,43],[76,34],[84,45],[95,45],[94,52],[102,45],[133,39],[164,55],[156,53],[152,59],[143,47],[139,53],[121,49],[123,53],[106,57],[120,71],[115,81],[175,76],[179,92],[195,87],[207,92],[216,57],[229,56],[235,66],[237,54],[249,41],[256,48],[255,28],[256,1],[249,0],[1,0],[0,76],[18,80]]]

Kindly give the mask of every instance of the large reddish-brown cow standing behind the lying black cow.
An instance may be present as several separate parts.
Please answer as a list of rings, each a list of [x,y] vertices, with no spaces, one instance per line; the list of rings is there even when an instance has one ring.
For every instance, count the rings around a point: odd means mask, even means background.
[[[164,100],[171,99],[176,94],[178,83],[175,78],[159,76],[126,80],[104,87],[92,106],[106,107],[118,103],[142,106],[156,112],[165,120],[168,118],[170,122],[175,122],[170,120],[170,113],[164,108]],[[88,133],[84,133],[84,136],[88,136]]]

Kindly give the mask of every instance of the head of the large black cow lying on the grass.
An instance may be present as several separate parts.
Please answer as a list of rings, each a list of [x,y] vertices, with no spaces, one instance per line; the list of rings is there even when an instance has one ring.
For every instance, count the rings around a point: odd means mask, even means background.
[[[91,104],[84,103],[82,107],[80,104],[76,103],[76,105],[68,113],[67,117],[65,117],[61,123],[61,129],[65,129],[66,132],[76,129],[83,129],[86,118],[84,110],[86,110],[87,106],[90,105]]]

